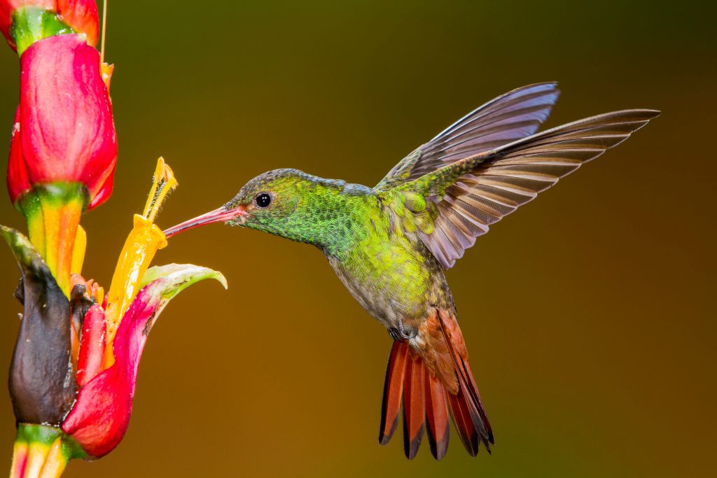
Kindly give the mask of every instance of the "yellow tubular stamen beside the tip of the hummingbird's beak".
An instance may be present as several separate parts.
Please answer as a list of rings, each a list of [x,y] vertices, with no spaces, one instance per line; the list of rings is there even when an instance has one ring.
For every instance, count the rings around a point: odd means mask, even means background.
[[[107,323],[108,347],[105,353],[105,368],[114,363],[111,344],[122,317],[139,292],[144,273],[158,249],[167,245],[162,230],[153,224],[153,221],[162,202],[176,186],[177,181],[171,168],[164,163],[163,158],[159,158],[144,214],[134,216],[134,227],[125,240],[107,295],[108,306],[105,312],[105,321]]]

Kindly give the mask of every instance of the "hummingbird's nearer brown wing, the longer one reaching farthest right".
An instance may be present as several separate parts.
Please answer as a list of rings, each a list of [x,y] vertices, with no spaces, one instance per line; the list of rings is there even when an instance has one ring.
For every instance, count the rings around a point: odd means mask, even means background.
[[[539,192],[630,137],[659,115],[625,110],[586,118],[463,158],[396,188],[426,198],[420,212],[422,241],[449,268],[488,232],[490,224],[533,200]]]

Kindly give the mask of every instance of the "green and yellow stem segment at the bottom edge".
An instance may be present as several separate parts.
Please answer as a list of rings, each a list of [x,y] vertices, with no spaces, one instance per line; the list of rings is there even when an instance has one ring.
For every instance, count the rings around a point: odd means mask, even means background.
[[[10,478],[59,478],[73,458],[86,458],[80,445],[62,430],[19,424]]]

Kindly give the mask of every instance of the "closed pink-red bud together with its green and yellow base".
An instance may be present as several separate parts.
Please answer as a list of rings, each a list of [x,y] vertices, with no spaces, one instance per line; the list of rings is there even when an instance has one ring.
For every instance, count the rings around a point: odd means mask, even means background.
[[[117,138],[98,51],[78,34],[35,42],[20,59],[7,187],[65,295],[82,211],[113,188]]]

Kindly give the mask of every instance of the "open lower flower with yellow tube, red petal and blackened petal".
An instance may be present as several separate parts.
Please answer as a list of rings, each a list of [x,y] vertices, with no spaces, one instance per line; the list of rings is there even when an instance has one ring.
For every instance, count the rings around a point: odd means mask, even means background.
[[[68,299],[29,239],[0,226],[22,272],[17,295],[24,312],[10,377],[19,423],[15,469],[26,470],[38,454],[64,467],[71,458],[102,457],[114,449],[129,423],[139,360],[157,316],[202,279],[227,287],[222,274],[205,267],[148,267],[166,246],[153,221],[175,186],[160,158],[145,211],[135,216],[106,297],[94,281],[74,274]],[[18,473],[12,476],[28,476]]]

